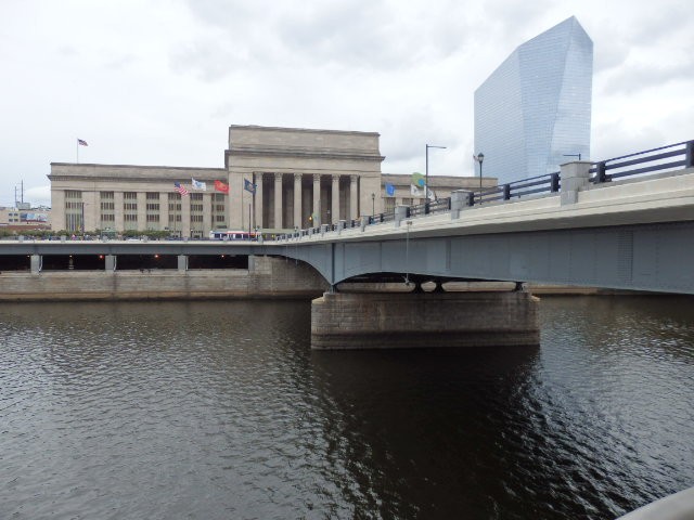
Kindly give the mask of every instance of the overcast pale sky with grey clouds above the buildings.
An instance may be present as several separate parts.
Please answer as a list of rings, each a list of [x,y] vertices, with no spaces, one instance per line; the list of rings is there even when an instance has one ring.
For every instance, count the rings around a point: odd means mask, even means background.
[[[223,167],[230,125],[381,133],[382,171],[474,174],[475,89],[575,15],[592,159],[694,139],[684,0],[0,0],[0,205],[50,162]]]

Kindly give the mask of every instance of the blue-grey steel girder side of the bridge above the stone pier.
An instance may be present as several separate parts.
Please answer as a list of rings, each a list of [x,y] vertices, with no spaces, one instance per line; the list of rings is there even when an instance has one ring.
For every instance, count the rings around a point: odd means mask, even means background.
[[[532,282],[694,294],[694,222],[297,244],[283,256],[349,278]]]

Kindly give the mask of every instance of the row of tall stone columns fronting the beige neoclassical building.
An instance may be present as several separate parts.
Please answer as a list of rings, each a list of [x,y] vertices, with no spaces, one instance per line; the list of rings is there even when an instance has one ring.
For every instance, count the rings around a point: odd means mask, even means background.
[[[254,225],[291,229],[359,218],[359,176],[255,172]]]

